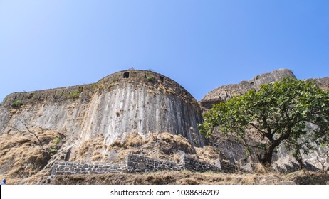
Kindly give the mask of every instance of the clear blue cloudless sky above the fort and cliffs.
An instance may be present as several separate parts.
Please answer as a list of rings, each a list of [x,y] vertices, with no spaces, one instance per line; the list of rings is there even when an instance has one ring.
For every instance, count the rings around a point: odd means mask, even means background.
[[[329,1],[0,0],[0,102],[131,67],[198,100],[279,68],[326,77]]]

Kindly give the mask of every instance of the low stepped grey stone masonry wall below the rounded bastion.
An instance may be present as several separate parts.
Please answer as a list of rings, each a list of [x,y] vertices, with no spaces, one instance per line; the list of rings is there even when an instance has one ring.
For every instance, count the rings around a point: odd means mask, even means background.
[[[216,165],[182,155],[181,163],[147,158],[141,155],[128,154],[125,164],[117,163],[77,163],[58,161],[54,163],[51,178],[56,175],[89,174],[89,173],[150,173],[155,171],[215,171],[234,173],[236,167],[226,161],[217,159]]]

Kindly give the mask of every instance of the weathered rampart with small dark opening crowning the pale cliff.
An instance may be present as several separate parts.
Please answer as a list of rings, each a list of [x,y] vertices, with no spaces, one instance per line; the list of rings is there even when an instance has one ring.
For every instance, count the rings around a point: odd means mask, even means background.
[[[11,107],[11,104],[16,101],[21,101],[22,104],[35,103],[58,103],[79,101],[88,102],[95,92],[108,92],[115,86],[120,85],[125,87],[125,83],[134,83],[135,85],[149,85],[164,94],[177,95],[184,101],[191,103],[195,108],[199,108],[194,97],[187,92],[181,85],[174,80],[165,77],[157,72],[150,70],[124,70],[108,75],[103,79],[93,84],[76,85],[71,87],[59,87],[48,90],[37,90],[31,92],[14,92],[6,96],[2,105]]]

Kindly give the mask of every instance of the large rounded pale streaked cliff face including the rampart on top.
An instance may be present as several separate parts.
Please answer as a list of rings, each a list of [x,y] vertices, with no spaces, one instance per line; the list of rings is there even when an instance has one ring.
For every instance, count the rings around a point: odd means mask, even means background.
[[[127,70],[92,85],[13,93],[0,107],[0,134],[12,126],[24,130],[22,118],[31,128],[53,129],[80,141],[102,134],[104,143],[112,144],[136,131],[142,136],[170,132],[196,146],[205,144],[197,128],[202,123],[197,101],[177,82],[150,71]]]

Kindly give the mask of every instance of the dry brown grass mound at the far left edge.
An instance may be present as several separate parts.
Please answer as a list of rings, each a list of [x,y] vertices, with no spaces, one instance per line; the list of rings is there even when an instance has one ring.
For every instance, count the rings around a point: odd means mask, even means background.
[[[55,145],[60,136],[56,131],[33,129],[44,144],[44,148]],[[19,183],[24,178],[35,176],[46,166],[50,156],[41,149],[36,138],[28,132],[12,131],[0,136],[0,178],[8,183]]]

